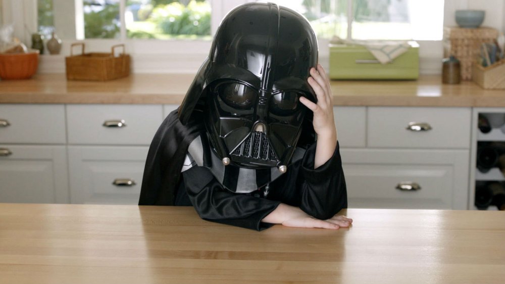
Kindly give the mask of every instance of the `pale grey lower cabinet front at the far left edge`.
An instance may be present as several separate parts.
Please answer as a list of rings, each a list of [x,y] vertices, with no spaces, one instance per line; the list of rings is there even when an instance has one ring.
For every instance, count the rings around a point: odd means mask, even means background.
[[[64,146],[0,145],[0,202],[68,203]]]

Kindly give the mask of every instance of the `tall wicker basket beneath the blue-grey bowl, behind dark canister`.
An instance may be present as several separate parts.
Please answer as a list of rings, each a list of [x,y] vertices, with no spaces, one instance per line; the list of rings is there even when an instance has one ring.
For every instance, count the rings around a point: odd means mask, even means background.
[[[460,60],[461,79],[472,79],[472,65],[480,54],[483,42],[492,42],[498,36],[493,28],[444,27],[444,57],[453,55]]]

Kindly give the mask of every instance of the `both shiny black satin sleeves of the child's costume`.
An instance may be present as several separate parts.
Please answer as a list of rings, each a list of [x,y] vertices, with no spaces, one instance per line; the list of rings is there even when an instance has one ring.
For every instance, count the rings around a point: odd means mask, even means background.
[[[188,201],[201,218],[223,224],[262,230],[272,224],[261,222],[280,203],[296,206],[318,219],[328,219],[347,208],[347,191],[339,146],[325,164],[314,169],[316,143],[304,158],[288,167],[285,174],[270,183],[267,198],[261,192],[229,192],[205,167],[194,166],[183,172],[184,185],[178,194],[180,205]],[[187,198],[185,195],[187,194]],[[256,195],[256,196],[255,196]],[[177,205],[177,204],[176,204]]]

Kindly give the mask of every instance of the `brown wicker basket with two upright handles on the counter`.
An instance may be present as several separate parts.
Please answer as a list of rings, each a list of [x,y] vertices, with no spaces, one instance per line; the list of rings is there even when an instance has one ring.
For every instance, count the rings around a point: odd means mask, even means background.
[[[73,47],[77,45],[82,46],[82,53],[73,55]],[[123,48],[119,56],[114,56],[116,48]],[[107,81],[130,74],[130,56],[125,54],[124,44],[112,46],[111,53],[84,53],[84,43],[72,43],[65,63],[68,80]]]

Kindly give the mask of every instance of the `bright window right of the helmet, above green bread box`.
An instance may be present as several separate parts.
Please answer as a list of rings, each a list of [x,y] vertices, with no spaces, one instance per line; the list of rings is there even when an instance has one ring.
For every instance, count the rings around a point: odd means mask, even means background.
[[[440,0],[274,0],[302,13],[318,37],[441,40]]]

